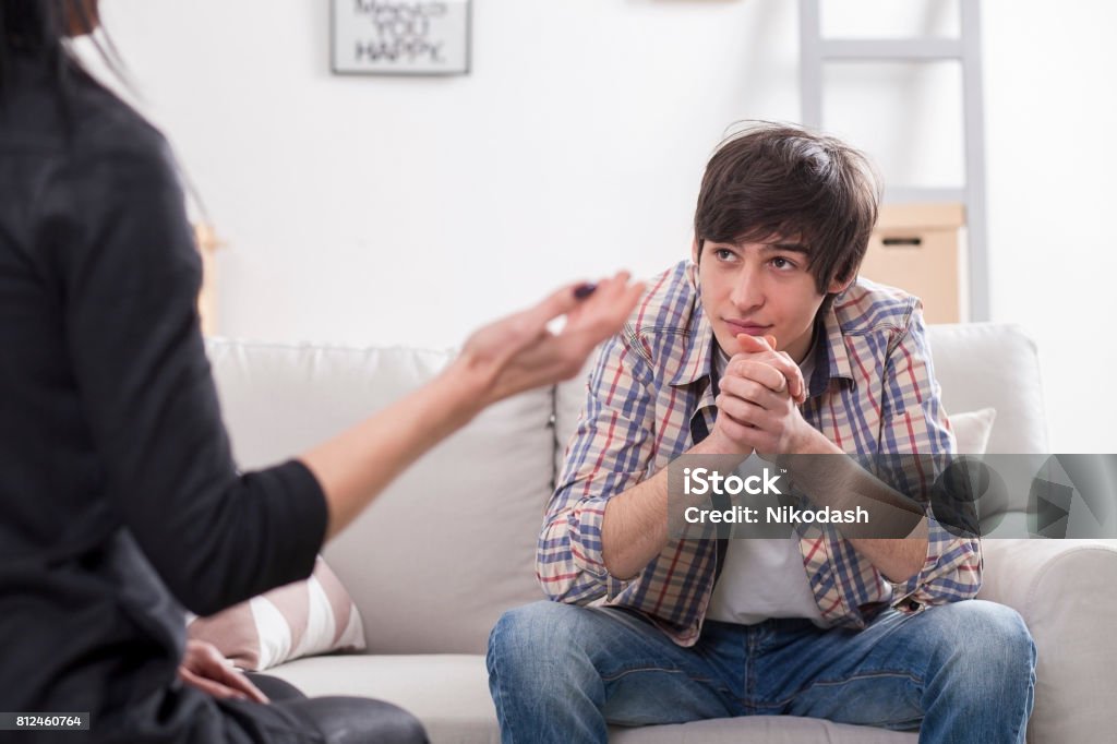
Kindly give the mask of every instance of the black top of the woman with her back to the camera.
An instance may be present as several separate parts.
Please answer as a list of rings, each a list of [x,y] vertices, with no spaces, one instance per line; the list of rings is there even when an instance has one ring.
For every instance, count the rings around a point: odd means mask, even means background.
[[[217,715],[182,607],[309,575],[326,505],[297,461],[235,469],[166,143],[71,84],[25,59],[0,94],[0,712],[172,741]]]

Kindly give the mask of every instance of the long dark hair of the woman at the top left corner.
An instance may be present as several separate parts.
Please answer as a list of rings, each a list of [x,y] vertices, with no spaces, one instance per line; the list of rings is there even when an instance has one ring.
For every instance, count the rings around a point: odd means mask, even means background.
[[[69,37],[75,27],[84,31],[97,27],[95,9],[92,0],[0,0],[0,101],[17,55],[32,57],[50,70],[51,82],[64,97],[74,77],[92,79],[70,49]],[[93,44],[108,69],[130,86],[112,39],[102,35]]]

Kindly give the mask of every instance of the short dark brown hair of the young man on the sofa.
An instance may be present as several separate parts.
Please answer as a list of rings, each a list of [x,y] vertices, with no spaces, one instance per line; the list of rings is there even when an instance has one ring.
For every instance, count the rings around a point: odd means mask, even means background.
[[[877,223],[880,180],[861,152],[789,124],[753,122],[718,146],[695,210],[698,255],[716,242],[794,239],[819,293],[857,275]],[[831,299],[830,297],[828,299]]]

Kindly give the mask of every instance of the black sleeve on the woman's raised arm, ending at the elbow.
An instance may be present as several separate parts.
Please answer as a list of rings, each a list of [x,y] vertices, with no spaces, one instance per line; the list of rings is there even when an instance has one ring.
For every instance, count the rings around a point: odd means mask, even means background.
[[[197,313],[200,257],[160,140],[59,159],[38,245],[111,507],[188,609],[309,575],[326,504],[298,461],[239,474]]]

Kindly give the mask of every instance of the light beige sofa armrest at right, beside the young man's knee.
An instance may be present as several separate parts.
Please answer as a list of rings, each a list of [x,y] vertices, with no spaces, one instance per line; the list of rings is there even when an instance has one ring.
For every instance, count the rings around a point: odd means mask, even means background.
[[[1089,742],[1117,731],[1114,541],[986,540],[980,599],[1021,614],[1035,640],[1028,741]]]

